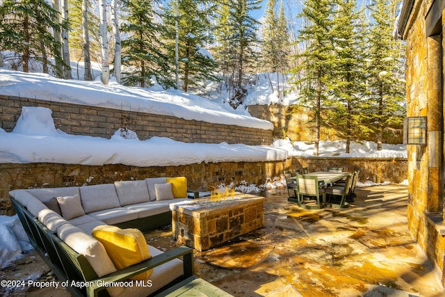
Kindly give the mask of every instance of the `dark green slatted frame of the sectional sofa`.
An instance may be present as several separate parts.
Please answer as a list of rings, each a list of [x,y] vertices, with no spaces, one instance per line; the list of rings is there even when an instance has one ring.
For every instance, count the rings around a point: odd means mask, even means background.
[[[39,253],[40,257],[44,259],[44,262],[51,268],[57,278],[62,282],[69,281],[70,284],[73,281],[88,283],[88,287],[83,288],[68,286],[67,289],[72,296],[108,296],[108,291],[106,291],[104,284],[128,280],[134,275],[138,275],[143,271],[147,271],[179,257],[182,257],[184,275],[159,289],[155,294],[191,277],[194,273],[193,249],[181,246],[99,278],[86,257],[74,251],[70,246],[67,246],[64,241],[58,238],[57,234],[51,232],[51,230],[44,226],[38,218],[35,218],[17,200],[14,198],[10,198],[10,200],[26,234],[29,236],[32,246]],[[125,227],[130,226],[127,224]],[[134,227],[134,225],[132,227]]]

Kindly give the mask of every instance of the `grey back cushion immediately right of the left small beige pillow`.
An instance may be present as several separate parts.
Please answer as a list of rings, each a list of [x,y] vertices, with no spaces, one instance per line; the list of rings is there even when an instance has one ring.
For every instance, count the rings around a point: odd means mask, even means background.
[[[120,207],[118,194],[114,184],[96,184],[81,186],[81,201],[86,214],[93,211]]]

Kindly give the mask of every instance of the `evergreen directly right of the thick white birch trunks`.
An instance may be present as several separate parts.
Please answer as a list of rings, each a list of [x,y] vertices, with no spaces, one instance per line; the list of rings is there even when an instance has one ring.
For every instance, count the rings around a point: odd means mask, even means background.
[[[126,14],[120,31],[127,37],[122,40],[122,83],[142,88],[152,86],[152,77],[164,88],[175,86],[168,56],[159,40],[162,31],[155,22],[152,1],[122,0]]]

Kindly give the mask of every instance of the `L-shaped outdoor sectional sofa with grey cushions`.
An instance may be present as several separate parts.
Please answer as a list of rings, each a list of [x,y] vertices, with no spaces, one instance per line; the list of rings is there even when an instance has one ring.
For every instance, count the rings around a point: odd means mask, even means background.
[[[193,275],[193,250],[182,246],[161,252],[147,246],[151,258],[118,269],[111,259],[112,251],[93,237],[92,231],[107,225],[120,230],[169,225],[170,203],[186,200],[186,184],[185,177],[147,178],[93,186],[20,189],[10,191],[10,199],[35,250],[72,294],[148,296]],[[134,240],[136,244],[140,241]],[[141,280],[141,273],[151,269],[149,278]],[[130,280],[135,276],[139,279]]]

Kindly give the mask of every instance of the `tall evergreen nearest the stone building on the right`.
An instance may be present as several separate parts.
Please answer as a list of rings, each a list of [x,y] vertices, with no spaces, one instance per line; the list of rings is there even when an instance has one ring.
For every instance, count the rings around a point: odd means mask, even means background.
[[[368,91],[370,128],[377,136],[377,148],[382,150],[383,130],[393,124],[401,125],[405,110],[405,82],[399,71],[401,41],[393,36],[396,3],[394,0],[373,0],[369,10],[373,22],[369,31]]]

